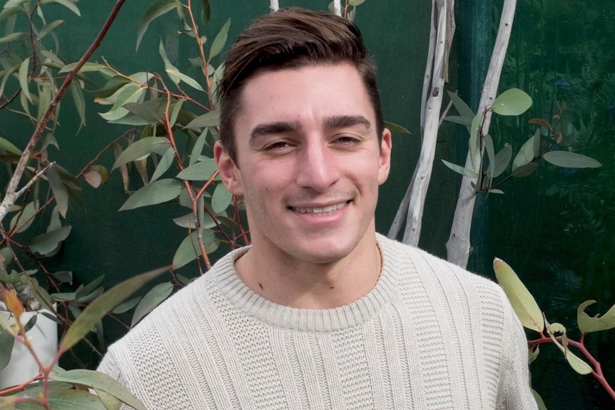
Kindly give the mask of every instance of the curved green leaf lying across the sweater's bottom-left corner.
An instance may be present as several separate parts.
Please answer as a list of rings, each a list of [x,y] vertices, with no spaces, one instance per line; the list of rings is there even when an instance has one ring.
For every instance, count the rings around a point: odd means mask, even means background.
[[[119,399],[121,402],[132,406],[135,409],[146,410],[146,406],[141,403],[126,387],[120,384],[116,379],[107,376],[100,371],[88,369],[74,369],[63,371],[61,373],[52,372],[49,379],[55,381],[64,381],[66,383],[79,384],[88,386],[92,389],[105,391],[108,394]]]

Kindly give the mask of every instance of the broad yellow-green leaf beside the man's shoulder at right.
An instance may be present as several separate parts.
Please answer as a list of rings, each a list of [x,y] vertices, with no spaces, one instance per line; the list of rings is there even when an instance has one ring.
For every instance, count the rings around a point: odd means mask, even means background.
[[[527,329],[542,332],[544,329],[542,311],[532,294],[527,290],[527,287],[519,280],[514,270],[497,257],[493,261],[493,270],[497,282],[504,289],[504,293],[508,297],[517,317],[519,317],[521,324],[527,327]]]

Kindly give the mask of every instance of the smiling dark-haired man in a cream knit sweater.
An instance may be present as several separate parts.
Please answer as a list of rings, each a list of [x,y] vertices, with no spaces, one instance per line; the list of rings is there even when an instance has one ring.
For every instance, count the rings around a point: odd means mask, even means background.
[[[251,247],[113,344],[148,409],[534,409],[497,285],[375,232],[390,170],[375,64],[325,12],[256,20],[221,84],[223,183]]]

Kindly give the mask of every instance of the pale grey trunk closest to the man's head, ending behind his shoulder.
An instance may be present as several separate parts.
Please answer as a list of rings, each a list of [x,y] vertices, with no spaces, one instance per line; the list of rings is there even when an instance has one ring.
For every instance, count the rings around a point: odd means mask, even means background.
[[[417,245],[435,158],[448,57],[454,34],[454,0],[433,0],[430,46],[421,99],[421,152],[410,186],[397,210],[389,237],[397,237],[405,219],[403,242]]]

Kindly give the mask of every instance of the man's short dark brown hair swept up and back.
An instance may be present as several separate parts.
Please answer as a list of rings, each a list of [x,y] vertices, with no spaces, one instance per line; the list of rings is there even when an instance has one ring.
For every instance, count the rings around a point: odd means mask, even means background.
[[[220,141],[235,164],[234,124],[246,81],[262,71],[338,63],[350,63],[360,73],[375,111],[380,141],[384,121],[376,86],[376,64],[352,21],[328,11],[298,7],[280,9],[255,19],[228,52],[218,88]]]

